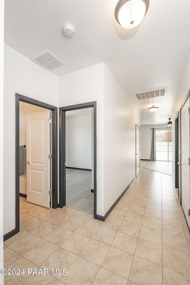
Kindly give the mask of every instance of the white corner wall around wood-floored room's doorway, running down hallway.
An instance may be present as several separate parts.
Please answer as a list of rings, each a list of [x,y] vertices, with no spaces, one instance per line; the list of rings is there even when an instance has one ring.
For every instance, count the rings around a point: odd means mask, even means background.
[[[59,106],[97,101],[97,214],[104,216],[135,177],[140,113],[104,63],[59,77]]]

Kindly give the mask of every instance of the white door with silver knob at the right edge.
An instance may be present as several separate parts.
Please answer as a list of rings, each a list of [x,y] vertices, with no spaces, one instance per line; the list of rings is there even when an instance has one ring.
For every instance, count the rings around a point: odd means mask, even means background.
[[[189,99],[181,109],[181,205],[185,213],[187,223],[190,227],[190,145],[189,145]]]

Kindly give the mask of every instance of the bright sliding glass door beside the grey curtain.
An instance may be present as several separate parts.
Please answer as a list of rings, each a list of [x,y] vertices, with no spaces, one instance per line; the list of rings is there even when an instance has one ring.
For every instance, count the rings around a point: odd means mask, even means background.
[[[156,132],[156,160],[172,161],[172,130],[159,129]]]

